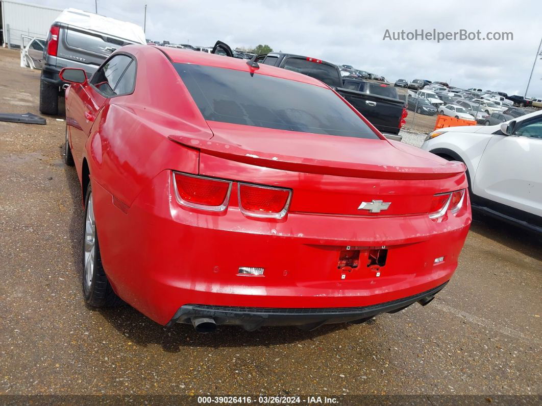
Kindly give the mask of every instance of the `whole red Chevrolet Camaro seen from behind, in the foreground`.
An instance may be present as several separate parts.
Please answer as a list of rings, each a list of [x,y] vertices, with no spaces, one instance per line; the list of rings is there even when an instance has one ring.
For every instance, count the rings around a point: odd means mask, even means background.
[[[310,330],[425,305],[454,273],[464,165],[385,139],[319,80],[139,45],[61,76],[89,305]]]

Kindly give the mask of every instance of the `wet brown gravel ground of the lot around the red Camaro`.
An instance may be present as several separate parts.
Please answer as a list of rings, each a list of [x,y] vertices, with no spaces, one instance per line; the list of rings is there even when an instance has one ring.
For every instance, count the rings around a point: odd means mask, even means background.
[[[0,49],[2,111],[37,114],[39,76]],[[484,218],[429,306],[364,325],[202,335],[87,308],[79,183],[57,119],[0,122],[0,394],[542,394],[541,241]]]

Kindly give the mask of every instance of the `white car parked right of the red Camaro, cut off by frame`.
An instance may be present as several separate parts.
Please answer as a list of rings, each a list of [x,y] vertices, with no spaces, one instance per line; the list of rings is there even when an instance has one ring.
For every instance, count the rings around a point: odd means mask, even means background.
[[[473,208],[542,233],[542,112],[441,128],[422,149],[467,166]]]

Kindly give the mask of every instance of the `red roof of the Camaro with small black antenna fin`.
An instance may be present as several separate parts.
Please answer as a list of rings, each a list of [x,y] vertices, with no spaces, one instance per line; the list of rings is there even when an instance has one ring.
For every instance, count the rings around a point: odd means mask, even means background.
[[[145,47],[145,46],[141,46]],[[325,83],[314,79],[311,76],[302,73],[293,72],[292,70],[277,68],[270,65],[260,63],[260,68],[254,70],[247,65],[246,59],[232,58],[228,56],[210,54],[207,52],[195,52],[192,50],[171,48],[171,47],[153,47],[161,50],[171,62],[176,63],[193,63],[195,65],[212,66],[216,68],[242,70],[243,72],[256,72],[261,75],[275,76],[276,78],[295,80],[298,82],[308,83],[319,87],[328,87]]]

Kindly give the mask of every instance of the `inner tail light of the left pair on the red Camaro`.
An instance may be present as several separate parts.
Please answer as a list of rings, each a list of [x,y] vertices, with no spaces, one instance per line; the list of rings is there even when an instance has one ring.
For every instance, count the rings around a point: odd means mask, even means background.
[[[288,211],[292,191],[269,186],[238,184],[239,209],[247,216],[282,218]]]

